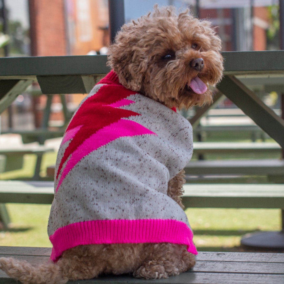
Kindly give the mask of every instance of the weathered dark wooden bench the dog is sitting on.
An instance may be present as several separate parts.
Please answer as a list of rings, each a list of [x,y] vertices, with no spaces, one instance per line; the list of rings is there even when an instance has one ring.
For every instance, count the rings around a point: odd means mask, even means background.
[[[39,264],[49,259],[51,248],[0,247],[0,257],[16,257]],[[101,275],[96,279],[69,281],[68,283],[152,283],[152,284],[202,284],[202,283],[283,283],[284,254],[252,252],[199,252],[193,269],[168,279],[143,280],[131,275]],[[0,270],[0,283],[16,284]]]

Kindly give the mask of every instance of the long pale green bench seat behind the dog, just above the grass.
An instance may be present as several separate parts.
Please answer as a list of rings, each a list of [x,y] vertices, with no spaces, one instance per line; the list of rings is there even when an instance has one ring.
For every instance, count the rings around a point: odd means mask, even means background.
[[[283,184],[185,184],[186,208],[284,209]],[[0,181],[3,203],[51,204],[52,181]]]

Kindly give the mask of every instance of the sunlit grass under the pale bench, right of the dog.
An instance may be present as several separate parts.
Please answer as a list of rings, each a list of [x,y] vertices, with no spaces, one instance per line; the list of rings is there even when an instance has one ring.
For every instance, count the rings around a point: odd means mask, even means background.
[[[280,231],[278,209],[188,208],[198,250],[238,250],[241,237],[255,231]]]

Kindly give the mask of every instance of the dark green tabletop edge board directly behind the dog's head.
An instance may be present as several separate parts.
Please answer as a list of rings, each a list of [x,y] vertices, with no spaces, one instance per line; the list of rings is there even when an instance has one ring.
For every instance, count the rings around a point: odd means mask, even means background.
[[[283,73],[284,51],[237,51],[222,55],[225,74]],[[0,58],[0,78],[106,74],[110,70],[106,61],[106,55]]]

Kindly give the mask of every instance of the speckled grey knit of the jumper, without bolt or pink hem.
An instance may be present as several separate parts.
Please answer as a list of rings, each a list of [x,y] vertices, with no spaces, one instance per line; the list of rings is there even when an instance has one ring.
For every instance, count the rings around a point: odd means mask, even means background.
[[[89,97],[96,96],[99,89],[97,85]],[[189,226],[183,210],[167,196],[167,189],[168,181],[191,158],[192,127],[178,113],[143,95],[133,92],[127,100],[132,103],[120,108],[140,115],[123,119],[154,134],[122,136],[83,156],[55,193],[49,236],[70,224],[93,220],[171,219]],[[56,171],[70,141],[59,149]]]

